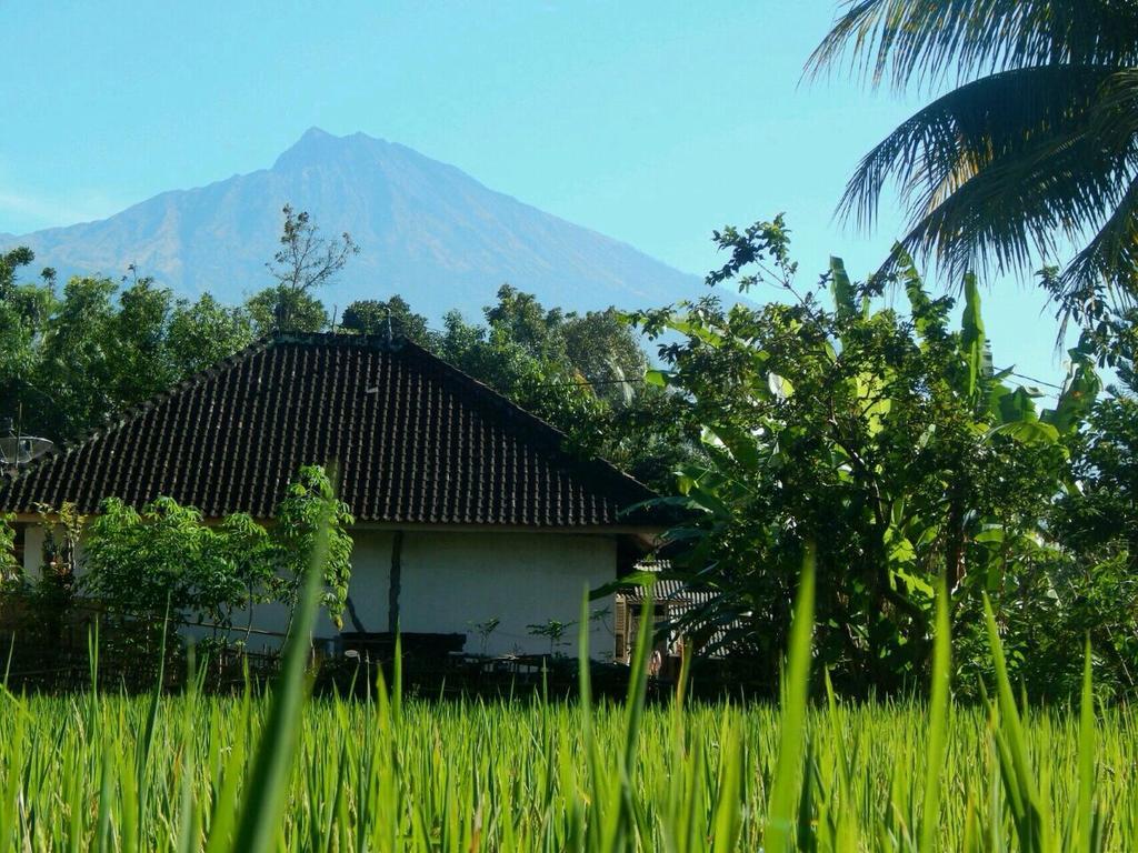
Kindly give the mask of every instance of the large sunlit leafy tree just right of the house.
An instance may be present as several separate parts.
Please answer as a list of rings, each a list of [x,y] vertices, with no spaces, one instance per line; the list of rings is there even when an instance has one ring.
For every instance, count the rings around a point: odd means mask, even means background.
[[[725,309],[707,297],[634,317],[650,336],[683,336],[649,378],[702,433],[667,503],[692,514],[671,533],[682,577],[718,595],[683,627],[732,626],[725,641],[773,666],[813,540],[819,652],[852,684],[899,687],[923,672],[939,574],[966,622],[981,590],[1034,558],[1064,442],[1097,391],[1089,359],[1040,413],[991,366],[973,278],[953,331],[954,300],[931,298],[907,260],[896,284],[909,317],[874,309],[885,282],[855,284],[836,259],[827,309],[797,289],[781,220],[717,238],[732,257],[711,283],[770,283],[794,303]]]

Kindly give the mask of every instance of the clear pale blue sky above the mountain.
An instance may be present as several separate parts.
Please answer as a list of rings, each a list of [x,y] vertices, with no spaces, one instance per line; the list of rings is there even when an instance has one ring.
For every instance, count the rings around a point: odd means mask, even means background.
[[[310,126],[402,142],[682,270],[785,212],[803,283],[897,235],[835,223],[920,101],[802,82],[833,0],[0,3],[0,232],[99,218],[272,164]],[[997,364],[1057,381],[1030,282],[990,280]],[[523,284],[518,282],[518,284]],[[756,293],[761,297],[761,293]]]

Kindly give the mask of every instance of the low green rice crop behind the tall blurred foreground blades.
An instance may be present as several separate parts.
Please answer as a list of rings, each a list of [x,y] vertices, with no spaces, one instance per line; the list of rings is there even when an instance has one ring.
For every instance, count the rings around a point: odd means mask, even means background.
[[[228,850],[217,835],[248,789],[267,703],[173,697],[9,697],[0,711],[3,850]],[[825,707],[808,717],[794,839],[803,850],[915,850],[927,710]],[[316,701],[304,712],[282,850],[610,850],[622,809],[634,848],[758,850],[778,753],[772,707],[649,709],[622,800],[627,715],[592,712],[596,762],[576,705]],[[1106,847],[1138,839],[1138,739],[1129,711],[1100,721],[1095,796]],[[1044,812],[1062,839],[1075,812],[1079,720],[1024,723]],[[940,777],[938,850],[1023,848],[984,712],[958,710]],[[233,789],[236,787],[236,790]],[[234,796],[236,795],[236,796]],[[213,830],[213,831],[211,831]],[[611,831],[611,828],[610,828]],[[618,846],[617,848],[622,848]],[[1070,847],[1059,844],[1056,848]]]

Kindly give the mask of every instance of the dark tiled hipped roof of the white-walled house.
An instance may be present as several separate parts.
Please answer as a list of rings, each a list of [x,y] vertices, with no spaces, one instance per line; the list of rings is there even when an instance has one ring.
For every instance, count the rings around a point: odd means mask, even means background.
[[[302,465],[337,459],[357,522],[644,523],[651,497],[421,347],[362,336],[266,339],[0,486],[0,508],[168,496],[216,517],[272,515]]]

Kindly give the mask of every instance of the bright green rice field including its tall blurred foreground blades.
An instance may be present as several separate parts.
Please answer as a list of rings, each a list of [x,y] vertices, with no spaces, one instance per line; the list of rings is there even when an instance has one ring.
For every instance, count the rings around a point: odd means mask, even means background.
[[[1089,677],[1022,709],[997,643],[991,702],[954,706],[946,632],[927,703],[808,697],[809,587],[777,705],[645,707],[643,660],[622,704],[584,673],[574,703],[403,702],[397,669],[307,699],[302,643],[271,694],[3,691],[0,848],[1138,848],[1135,714]]]

